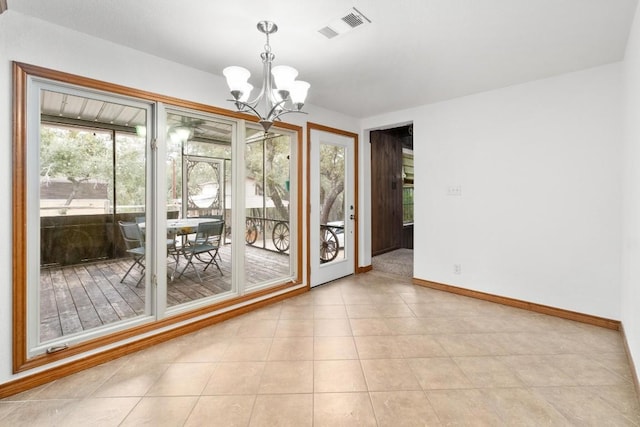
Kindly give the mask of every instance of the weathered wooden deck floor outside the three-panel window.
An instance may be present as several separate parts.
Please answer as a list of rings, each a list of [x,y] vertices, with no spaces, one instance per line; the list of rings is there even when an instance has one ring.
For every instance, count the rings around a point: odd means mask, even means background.
[[[261,283],[289,274],[289,255],[251,246],[246,247],[248,284]],[[231,246],[221,248],[222,261],[200,271],[202,282],[190,266],[181,278],[167,282],[169,307],[227,292],[231,289]],[[178,272],[185,266],[181,259]],[[66,267],[46,267],[40,271],[40,340],[42,342],[83,330],[130,319],[144,313],[144,282],[136,286],[142,271],[138,267],[121,278],[132,263],[121,258]],[[202,265],[195,262],[200,270]],[[174,265],[169,265],[170,273]]]

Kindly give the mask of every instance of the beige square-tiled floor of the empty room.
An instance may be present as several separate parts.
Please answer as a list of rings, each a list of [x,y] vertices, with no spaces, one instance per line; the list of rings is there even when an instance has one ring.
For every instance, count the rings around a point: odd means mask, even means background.
[[[0,401],[2,426],[640,425],[616,331],[369,272]]]

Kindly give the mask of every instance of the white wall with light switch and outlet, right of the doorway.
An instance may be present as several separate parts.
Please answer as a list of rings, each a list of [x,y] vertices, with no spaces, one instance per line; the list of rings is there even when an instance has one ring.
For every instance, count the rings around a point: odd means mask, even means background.
[[[414,123],[414,277],[620,319],[621,68],[364,121]]]

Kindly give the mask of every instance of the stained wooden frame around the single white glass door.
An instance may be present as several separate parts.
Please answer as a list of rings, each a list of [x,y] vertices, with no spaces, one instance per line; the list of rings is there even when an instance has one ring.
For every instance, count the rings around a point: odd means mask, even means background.
[[[353,139],[353,203],[354,203],[354,233],[353,233],[353,273],[358,273],[358,253],[359,253],[359,222],[360,211],[358,208],[358,134],[342,129],[332,128],[318,123],[307,122],[307,286],[311,287],[311,131],[333,133]]]

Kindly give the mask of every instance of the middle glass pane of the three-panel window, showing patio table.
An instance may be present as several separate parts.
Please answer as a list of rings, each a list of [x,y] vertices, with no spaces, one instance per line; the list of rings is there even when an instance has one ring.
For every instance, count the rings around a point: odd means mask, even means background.
[[[167,114],[167,306],[229,294],[232,125]]]

